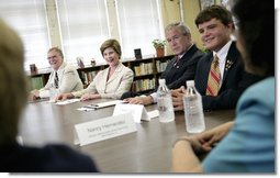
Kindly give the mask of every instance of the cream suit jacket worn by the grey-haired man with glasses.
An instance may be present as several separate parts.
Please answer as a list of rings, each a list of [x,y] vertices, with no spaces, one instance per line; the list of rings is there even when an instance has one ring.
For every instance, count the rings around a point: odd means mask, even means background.
[[[57,70],[57,75],[58,75],[58,92],[59,93],[78,91],[83,88],[79,74],[75,67],[66,63],[63,63],[59,69]],[[52,70],[46,86],[40,90],[41,98],[49,97],[48,91],[52,87],[55,86],[54,80],[55,80],[55,70]]]

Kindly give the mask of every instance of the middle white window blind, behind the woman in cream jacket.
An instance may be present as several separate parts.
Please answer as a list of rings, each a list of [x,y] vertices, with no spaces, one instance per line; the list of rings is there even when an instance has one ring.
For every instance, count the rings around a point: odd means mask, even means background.
[[[61,42],[65,58],[77,63],[83,57],[102,60],[100,45],[109,38],[108,15],[104,0],[57,0]]]

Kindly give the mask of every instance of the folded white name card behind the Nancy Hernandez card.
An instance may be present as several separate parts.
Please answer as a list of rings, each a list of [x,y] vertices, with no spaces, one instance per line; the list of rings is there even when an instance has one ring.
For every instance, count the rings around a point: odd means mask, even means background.
[[[119,115],[123,113],[132,113],[133,120],[136,123],[143,121],[150,121],[149,115],[144,105],[142,104],[128,104],[128,103],[119,103],[114,108],[113,115]]]

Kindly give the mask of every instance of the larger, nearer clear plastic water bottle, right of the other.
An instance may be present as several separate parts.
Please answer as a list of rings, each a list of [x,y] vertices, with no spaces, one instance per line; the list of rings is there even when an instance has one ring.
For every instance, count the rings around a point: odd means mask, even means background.
[[[189,133],[200,133],[205,130],[201,94],[194,87],[194,81],[187,81],[183,96],[186,129]]]

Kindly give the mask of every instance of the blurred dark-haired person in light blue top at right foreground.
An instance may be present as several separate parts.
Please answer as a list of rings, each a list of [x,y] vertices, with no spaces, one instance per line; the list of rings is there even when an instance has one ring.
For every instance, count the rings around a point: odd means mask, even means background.
[[[175,142],[173,171],[276,173],[273,5],[262,0],[233,2],[245,69],[265,79],[242,94],[234,122]],[[201,153],[209,153],[202,162]]]

